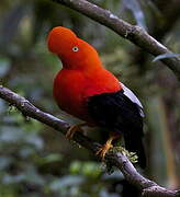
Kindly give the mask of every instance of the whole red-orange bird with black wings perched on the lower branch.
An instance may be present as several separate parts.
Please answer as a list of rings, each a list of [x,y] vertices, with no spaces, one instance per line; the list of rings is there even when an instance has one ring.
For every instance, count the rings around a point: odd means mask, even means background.
[[[125,148],[136,152],[139,166],[145,167],[144,112],[137,96],[104,68],[95,48],[70,28],[50,30],[47,47],[63,63],[54,79],[54,99],[60,109],[82,120],[71,126],[66,137],[72,138],[83,126],[105,128],[109,138],[97,155],[104,160],[113,141],[123,136]]]

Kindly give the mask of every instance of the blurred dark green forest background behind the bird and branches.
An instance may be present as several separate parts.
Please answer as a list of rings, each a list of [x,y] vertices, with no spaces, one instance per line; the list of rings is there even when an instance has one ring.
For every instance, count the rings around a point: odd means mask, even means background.
[[[179,0],[93,0],[121,19],[144,27],[180,53]],[[50,0],[0,1],[0,83],[41,109],[69,123],[56,106],[52,86],[60,61],[46,47],[54,26],[70,27],[93,45],[106,69],[134,90],[145,111],[148,166],[142,173],[158,184],[180,187],[180,86],[154,57],[109,28]],[[89,136],[100,142],[100,129]],[[49,127],[23,117],[0,100],[1,197],[139,196],[116,170],[108,173],[89,151]]]

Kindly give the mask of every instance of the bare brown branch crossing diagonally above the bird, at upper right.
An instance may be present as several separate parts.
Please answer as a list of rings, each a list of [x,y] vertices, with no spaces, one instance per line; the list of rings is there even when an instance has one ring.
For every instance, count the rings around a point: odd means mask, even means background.
[[[154,37],[151,37],[144,28],[136,25],[131,25],[130,23],[114,15],[109,10],[104,10],[86,0],[53,0],[53,1],[69,7],[87,15],[88,18],[103,24],[104,26],[110,27],[122,37],[131,40],[132,43],[134,43],[135,45],[139,46],[140,48],[143,48],[144,50],[148,51],[154,56],[172,53],[162,44],[157,42]],[[175,58],[161,59],[161,61],[165,65],[167,65],[173,71],[177,78],[180,80],[180,59],[175,57]]]

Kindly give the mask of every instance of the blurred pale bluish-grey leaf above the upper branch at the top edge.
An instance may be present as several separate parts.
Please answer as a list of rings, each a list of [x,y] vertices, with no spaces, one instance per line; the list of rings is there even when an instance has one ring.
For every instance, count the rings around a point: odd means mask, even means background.
[[[124,5],[132,11],[137,25],[142,26],[143,28],[147,30],[146,22],[145,22],[145,15],[140,8],[140,4],[138,0],[123,0]]]

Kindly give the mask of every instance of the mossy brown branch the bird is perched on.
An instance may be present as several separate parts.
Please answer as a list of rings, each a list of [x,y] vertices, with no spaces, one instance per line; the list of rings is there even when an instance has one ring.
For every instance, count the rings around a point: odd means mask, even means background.
[[[44,123],[45,125],[54,128],[55,130],[64,135],[70,127],[68,123],[38,109],[27,100],[10,91],[9,89],[3,88],[2,85],[0,85],[0,97],[10,103],[11,105],[15,106],[23,115]],[[100,148],[99,143],[92,141],[80,132],[76,132],[74,140],[86,149],[91,150],[93,153],[95,153],[97,150]],[[131,184],[135,185],[142,190],[143,197],[180,197],[180,190],[166,189],[158,186],[155,182],[151,182],[142,176],[133,166],[133,164],[128,161],[126,155],[124,155],[123,153],[110,152],[106,154],[105,159],[106,161],[119,167],[123,173],[124,177]]]

